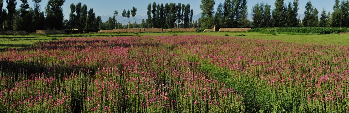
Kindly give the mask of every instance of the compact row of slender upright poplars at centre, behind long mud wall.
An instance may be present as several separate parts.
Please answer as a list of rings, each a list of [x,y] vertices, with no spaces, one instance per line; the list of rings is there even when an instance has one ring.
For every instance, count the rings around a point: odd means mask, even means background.
[[[145,27],[147,28],[188,28],[193,27],[193,9],[190,4],[163,3],[156,2],[148,4],[148,19],[146,19]],[[165,24],[164,24],[165,23]]]

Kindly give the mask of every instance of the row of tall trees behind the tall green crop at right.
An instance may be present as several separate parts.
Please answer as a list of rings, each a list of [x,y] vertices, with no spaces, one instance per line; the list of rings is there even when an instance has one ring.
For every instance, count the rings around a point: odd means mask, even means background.
[[[298,0],[284,4],[284,0],[275,1],[275,9],[263,2],[252,7],[253,27],[349,27],[349,1],[335,0],[333,12],[322,9],[319,11],[312,6],[311,1],[305,5],[304,18],[298,16]]]

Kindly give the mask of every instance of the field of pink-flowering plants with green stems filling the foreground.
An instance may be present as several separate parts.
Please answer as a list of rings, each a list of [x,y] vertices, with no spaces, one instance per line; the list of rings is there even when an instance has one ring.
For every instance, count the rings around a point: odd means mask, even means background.
[[[0,52],[1,113],[349,112],[349,47],[181,35]]]

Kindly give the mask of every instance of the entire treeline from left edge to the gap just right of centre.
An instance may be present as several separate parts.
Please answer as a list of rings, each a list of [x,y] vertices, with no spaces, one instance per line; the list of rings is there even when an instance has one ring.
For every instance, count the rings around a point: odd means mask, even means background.
[[[115,29],[115,28],[187,28],[198,27],[197,22],[194,23],[193,10],[190,4],[166,3],[148,6],[149,18],[138,24],[129,21],[130,17],[136,16],[137,8],[132,7],[131,10],[122,12],[122,17],[127,17],[128,26],[117,22],[116,16],[118,11],[115,10],[114,15],[109,17],[108,21],[103,22],[101,16],[96,16],[94,9],[88,7],[81,2],[76,5],[70,5],[69,20],[64,20],[62,6],[65,0],[49,0],[44,11],[41,11],[40,2],[42,0],[33,0],[34,9],[29,7],[28,0],[21,0],[20,9],[16,9],[16,0],[6,0],[7,10],[2,8],[3,0],[0,0],[0,23],[1,30],[26,30],[33,32],[38,29]],[[153,7],[153,8],[152,8]],[[3,10],[2,10],[3,9]],[[167,24],[162,24],[167,23]]]

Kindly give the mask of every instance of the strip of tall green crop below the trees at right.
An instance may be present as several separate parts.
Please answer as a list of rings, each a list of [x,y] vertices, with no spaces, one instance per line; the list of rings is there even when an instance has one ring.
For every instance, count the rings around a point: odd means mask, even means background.
[[[328,28],[328,27],[253,28],[251,30],[248,30],[247,32],[331,34],[331,33],[349,32],[349,28]]]

